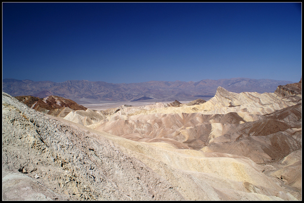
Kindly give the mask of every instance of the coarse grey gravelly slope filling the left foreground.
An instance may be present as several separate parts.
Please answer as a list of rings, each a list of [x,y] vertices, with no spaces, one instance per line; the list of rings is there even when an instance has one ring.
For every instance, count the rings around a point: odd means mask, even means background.
[[[2,93],[2,200],[183,200],[152,169],[96,136]]]

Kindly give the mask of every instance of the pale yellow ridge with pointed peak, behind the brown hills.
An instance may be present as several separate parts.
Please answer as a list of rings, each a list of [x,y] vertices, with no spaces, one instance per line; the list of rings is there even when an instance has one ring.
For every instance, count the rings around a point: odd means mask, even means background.
[[[132,112],[129,115],[148,115],[156,113],[194,113],[201,114],[226,114],[237,112],[245,121],[256,120],[255,115],[264,115],[275,110],[292,106],[302,100],[302,95],[296,95],[293,98],[282,98],[275,93],[228,92],[219,87],[216,95],[207,102],[200,105],[182,106],[175,108],[150,108],[141,111]]]

